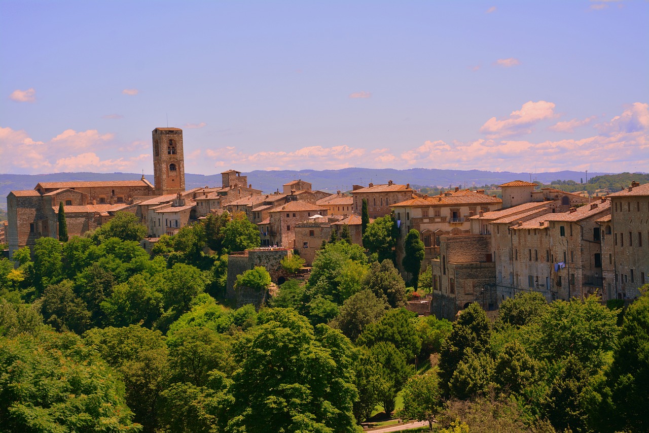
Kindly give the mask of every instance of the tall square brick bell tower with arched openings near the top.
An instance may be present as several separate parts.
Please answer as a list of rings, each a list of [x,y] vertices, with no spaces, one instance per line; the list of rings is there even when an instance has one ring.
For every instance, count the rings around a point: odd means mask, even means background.
[[[182,129],[153,130],[153,180],[157,195],[185,192]]]

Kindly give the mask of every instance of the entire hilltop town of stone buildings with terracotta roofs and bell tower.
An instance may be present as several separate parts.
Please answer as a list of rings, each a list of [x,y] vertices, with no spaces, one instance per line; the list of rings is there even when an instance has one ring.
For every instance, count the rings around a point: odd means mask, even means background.
[[[227,170],[220,187],[186,190],[182,130],[169,127],[153,131],[153,166],[153,184],[142,176],[43,182],[10,192],[9,253],[33,246],[39,237],[56,238],[60,203],[70,236],[94,230],[119,211],[136,215],[148,230],[142,245],[149,251],[162,235],[175,235],[208,215],[244,213],[258,227],[261,247],[232,253],[231,292],[234,271],[258,264],[265,263],[274,282],[282,283],[278,263],[294,252],[308,272],[323,242],[343,231],[362,245],[365,202],[370,222],[388,215],[395,220],[398,265],[406,235],[419,233],[421,269],[432,273],[432,294],[410,303],[421,314],[452,319],[472,302],[493,311],[524,292],[541,293],[548,302],[593,294],[633,299],[648,282],[649,184],[588,198],[512,179],[500,185],[500,199],[459,188],[427,196],[389,180],[330,194],[297,179],[262,194],[241,172]]]

